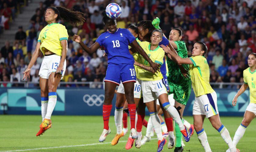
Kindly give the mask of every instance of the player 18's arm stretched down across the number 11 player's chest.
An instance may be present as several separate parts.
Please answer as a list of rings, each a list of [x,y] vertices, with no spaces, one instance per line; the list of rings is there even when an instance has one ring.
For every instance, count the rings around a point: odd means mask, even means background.
[[[154,63],[149,57],[148,55],[145,53],[145,51],[140,47],[140,45],[138,44],[138,42],[136,40],[134,40],[132,43],[129,44],[131,47],[133,47],[137,52],[139,52],[139,54],[144,57],[145,60],[148,61],[148,63],[150,64],[150,66],[154,69],[154,71],[159,71],[159,65]]]

